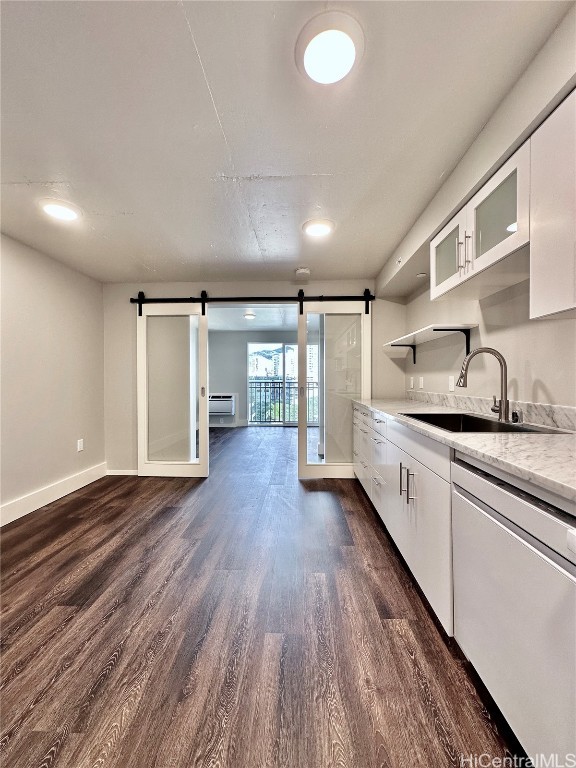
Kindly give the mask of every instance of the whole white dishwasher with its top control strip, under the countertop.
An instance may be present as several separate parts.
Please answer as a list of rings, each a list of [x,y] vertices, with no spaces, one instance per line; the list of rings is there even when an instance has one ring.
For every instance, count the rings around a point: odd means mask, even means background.
[[[452,530],[454,636],[528,755],[563,765],[576,754],[576,518],[455,461]]]

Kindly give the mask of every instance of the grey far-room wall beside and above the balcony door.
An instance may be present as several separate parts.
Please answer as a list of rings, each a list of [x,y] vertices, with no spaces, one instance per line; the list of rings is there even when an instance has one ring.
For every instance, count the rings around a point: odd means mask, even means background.
[[[238,394],[236,419],[240,425],[247,422],[248,402],[248,342],[270,344],[295,344],[296,331],[211,331],[209,346],[209,388],[210,392]],[[231,417],[222,417],[224,423],[231,423]],[[218,417],[210,420],[218,423]]]

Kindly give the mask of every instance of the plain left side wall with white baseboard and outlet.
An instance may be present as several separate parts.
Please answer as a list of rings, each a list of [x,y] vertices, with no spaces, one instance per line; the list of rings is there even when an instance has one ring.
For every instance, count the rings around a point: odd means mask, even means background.
[[[1,498],[9,522],[105,474],[103,306],[101,283],[4,235],[1,259]]]

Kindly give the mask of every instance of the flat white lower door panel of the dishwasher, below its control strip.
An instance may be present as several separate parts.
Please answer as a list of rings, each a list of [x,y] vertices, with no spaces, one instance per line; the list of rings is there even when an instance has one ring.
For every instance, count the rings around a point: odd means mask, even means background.
[[[452,512],[456,640],[529,754],[576,753],[575,576],[457,490]]]

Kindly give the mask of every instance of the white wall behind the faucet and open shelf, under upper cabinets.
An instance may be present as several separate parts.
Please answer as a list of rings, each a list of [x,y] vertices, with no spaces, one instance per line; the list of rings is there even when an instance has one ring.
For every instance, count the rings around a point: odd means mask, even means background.
[[[471,348],[495,347],[508,363],[509,397],[534,403],[576,405],[576,321],[530,320],[529,282],[525,281],[482,301],[448,297],[429,301],[429,292],[406,307],[407,330],[433,323],[478,323]],[[448,376],[457,378],[464,358],[464,337],[447,336],[417,348],[416,365],[405,362],[410,376],[424,376],[424,390],[448,392]],[[418,386],[416,378],[415,386]],[[497,361],[480,355],[470,363],[466,389],[456,394],[491,397],[500,391]]]

